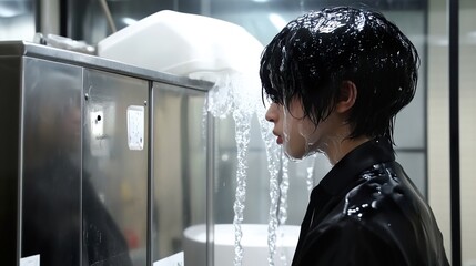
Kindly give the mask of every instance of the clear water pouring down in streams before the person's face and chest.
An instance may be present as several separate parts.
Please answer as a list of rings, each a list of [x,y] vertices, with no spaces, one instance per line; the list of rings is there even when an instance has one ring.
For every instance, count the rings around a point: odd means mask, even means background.
[[[212,80],[212,79],[206,79]],[[278,259],[280,265],[288,265],[285,250],[277,247],[284,239],[284,233],[280,226],[287,221],[287,190],[288,162],[282,147],[275,142],[272,134],[273,123],[265,120],[266,109],[261,102],[261,90],[256,89],[253,80],[243,78],[237,73],[223,72],[221,76],[213,80],[214,86],[209,91],[206,113],[214,117],[225,119],[232,115],[235,123],[235,142],[237,149],[236,167],[236,190],[233,204],[234,218],[234,266],[241,266],[243,262],[244,248],[241,244],[243,238],[242,223],[244,219],[246,200],[246,177],[247,177],[247,153],[250,144],[250,127],[253,115],[257,116],[260,131],[265,144],[267,171],[270,174],[270,213],[267,226],[267,263],[274,266]],[[246,89],[243,89],[246,88]],[[254,92],[250,92],[254,88]],[[206,114],[204,113],[204,115]],[[280,253],[278,253],[280,252]],[[278,253],[278,254],[277,254]],[[277,256],[276,256],[277,255]]]

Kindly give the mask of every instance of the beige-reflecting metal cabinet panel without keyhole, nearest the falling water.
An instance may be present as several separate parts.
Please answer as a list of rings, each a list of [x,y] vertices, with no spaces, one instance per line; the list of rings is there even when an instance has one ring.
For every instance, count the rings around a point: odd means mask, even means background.
[[[182,252],[183,231],[206,224],[204,102],[203,91],[153,84],[152,262]],[[205,265],[202,258],[192,265]]]

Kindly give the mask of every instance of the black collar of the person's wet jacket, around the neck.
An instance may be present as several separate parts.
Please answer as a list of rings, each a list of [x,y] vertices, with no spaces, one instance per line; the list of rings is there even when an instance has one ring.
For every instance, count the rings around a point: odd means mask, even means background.
[[[378,163],[395,161],[392,143],[386,137],[365,142],[347,153],[324,176],[320,185],[330,195],[337,195],[354,183],[364,170]]]

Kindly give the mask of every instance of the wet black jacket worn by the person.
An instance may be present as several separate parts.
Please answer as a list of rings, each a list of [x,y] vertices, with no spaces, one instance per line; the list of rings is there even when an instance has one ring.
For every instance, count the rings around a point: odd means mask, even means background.
[[[386,139],[356,147],[313,190],[292,265],[449,265],[432,209]]]

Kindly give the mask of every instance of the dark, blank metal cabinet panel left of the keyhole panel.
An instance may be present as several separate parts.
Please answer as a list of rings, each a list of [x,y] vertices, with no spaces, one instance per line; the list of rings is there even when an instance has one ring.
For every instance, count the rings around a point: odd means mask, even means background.
[[[82,69],[23,64],[21,257],[80,265]]]

